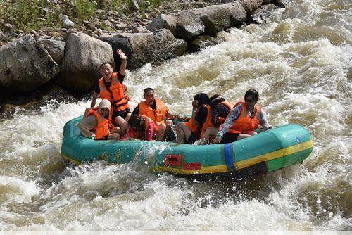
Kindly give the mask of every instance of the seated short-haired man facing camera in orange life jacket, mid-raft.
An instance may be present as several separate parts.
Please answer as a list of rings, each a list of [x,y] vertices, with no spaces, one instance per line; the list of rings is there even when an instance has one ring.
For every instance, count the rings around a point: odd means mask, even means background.
[[[153,88],[146,88],[143,91],[145,101],[138,103],[138,106],[134,108],[132,115],[145,115],[146,117],[153,120],[156,125],[156,139],[158,141],[163,141],[167,139],[172,133],[172,120],[175,118],[183,119],[178,115],[172,115],[169,113],[168,107],[165,103],[155,97]],[[168,118],[168,120],[165,120]]]

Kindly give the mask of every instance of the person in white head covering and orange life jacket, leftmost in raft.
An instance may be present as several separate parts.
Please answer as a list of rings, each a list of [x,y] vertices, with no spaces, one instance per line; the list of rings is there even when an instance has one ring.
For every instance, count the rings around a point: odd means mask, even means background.
[[[89,108],[77,124],[84,137],[93,139],[120,139],[120,129],[111,122],[111,103],[103,99],[96,108]]]

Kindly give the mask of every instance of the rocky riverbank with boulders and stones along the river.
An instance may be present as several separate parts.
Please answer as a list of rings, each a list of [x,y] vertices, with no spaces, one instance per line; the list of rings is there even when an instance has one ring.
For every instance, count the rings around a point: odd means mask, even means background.
[[[0,110],[11,115],[13,105],[38,103],[38,100],[43,103],[55,96],[61,99],[68,97],[67,91],[73,95],[87,94],[100,76],[101,63],[109,62],[119,67],[119,58],[113,53],[118,48],[129,57],[130,69],[146,63],[158,65],[187,51],[221,42],[215,37],[217,32],[241,27],[246,22],[257,23],[251,15],[257,21],[263,21],[263,15],[274,9],[266,1],[267,5],[260,7],[263,0],[170,3],[177,7],[180,6],[177,3],[182,3],[183,9],[168,13],[171,7],[156,6],[154,11],[147,12],[146,1],[130,1],[132,13],[127,17],[133,19],[130,24],[125,24],[122,17],[110,16],[115,14],[113,11],[106,13],[103,10],[96,10],[99,18],[83,20],[78,29],[68,16],[61,15],[63,27],[49,33],[31,30],[24,34],[18,30],[17,34],[11,31],[9,23],[4,23],[13,36],[8,37],[8,32],[5,36],[4,33],[0,35],[1,39],[5,37],[10,41],[0,48],[0,89],[3,94]],[[140,4],[144,6],[142,13]],[[156,17],[151,18],[151,15]],[[105,21],[99,21],[103,18]],[[114,26],[115,30],[110,26],[109,30],[102,30],[97,27],[99,23]],[[122,24],[125,27],[120,27]],[[117,25],[120,25],[119,30]]]

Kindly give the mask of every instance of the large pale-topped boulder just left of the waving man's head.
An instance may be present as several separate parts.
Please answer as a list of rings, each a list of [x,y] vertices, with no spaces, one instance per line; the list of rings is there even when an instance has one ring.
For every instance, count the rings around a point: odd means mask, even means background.
[[[89,91],[101,77],[99,66],[113,61],[111,46],[81,32],[65,37],[65,55],[61,63],[58,83],[74,91]]]

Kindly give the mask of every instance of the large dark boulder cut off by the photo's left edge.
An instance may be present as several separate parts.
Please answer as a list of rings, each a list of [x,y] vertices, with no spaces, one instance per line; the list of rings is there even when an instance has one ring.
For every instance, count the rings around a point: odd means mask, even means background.
[[[0,87],[29,92],[51,80],[58,64],[27,34],[0,48]]]

